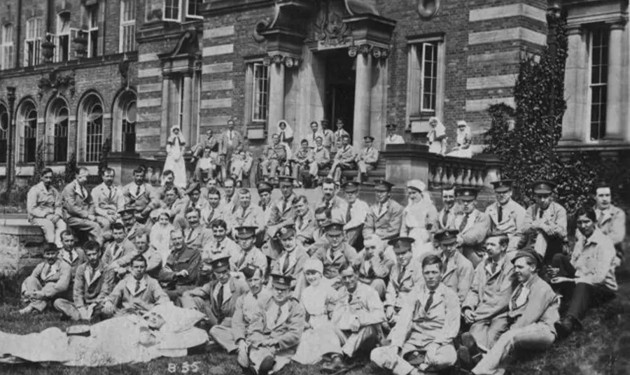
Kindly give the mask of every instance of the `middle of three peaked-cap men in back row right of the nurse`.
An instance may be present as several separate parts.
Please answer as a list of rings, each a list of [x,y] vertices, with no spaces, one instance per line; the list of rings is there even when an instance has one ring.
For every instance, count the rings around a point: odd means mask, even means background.
[[[486,208],[493,233],[504,233],[510,239],[507,251],[517,250],[525,223],[525,208],[512,200],[514,180],[501,180],[492,183],[496,201]]]

